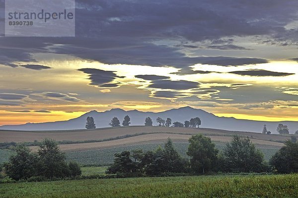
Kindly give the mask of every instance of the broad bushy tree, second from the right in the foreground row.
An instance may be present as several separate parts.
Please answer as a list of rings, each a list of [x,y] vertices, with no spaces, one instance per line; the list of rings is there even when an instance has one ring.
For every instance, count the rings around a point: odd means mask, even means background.
[[[256,149],[249,138],[234,136],[224,148],[224,165],[227,171],[262,172],[263,153]]]

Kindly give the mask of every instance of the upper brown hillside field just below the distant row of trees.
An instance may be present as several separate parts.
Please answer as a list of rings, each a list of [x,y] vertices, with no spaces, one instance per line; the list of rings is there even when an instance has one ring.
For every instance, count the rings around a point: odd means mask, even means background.
[[[95,130],[72,130],[72,131],[5,131],[0,130],[0,142],[34,142],[41,141],[44,138],[52,138],[56,141],[86,141],[86,140],[103,140],[115,138],[124,135],[144,133],[175,133],[175,134],[203,134],[212,136],[232,136],[240,135],[249,137],[251,139],[282,142],[289,139],[289,136],[280,135],[266,135],[252,132],[236,132],[225,131],[219,129],[206,128],[178,128],[178,127],[116,127],[116,128],[102,128]]]

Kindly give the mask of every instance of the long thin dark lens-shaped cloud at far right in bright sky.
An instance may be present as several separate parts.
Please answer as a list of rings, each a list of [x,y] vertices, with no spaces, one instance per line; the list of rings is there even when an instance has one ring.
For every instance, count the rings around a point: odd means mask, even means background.
[[[294,75],[295,73],[283,73],[283,72],[273,72],[273,71],[267,71],[263,69],[250,69],[250,70],[244,70],[244,71],[231,71],[228,72],[231,74],[237,74],[242,76],[290,76]]]

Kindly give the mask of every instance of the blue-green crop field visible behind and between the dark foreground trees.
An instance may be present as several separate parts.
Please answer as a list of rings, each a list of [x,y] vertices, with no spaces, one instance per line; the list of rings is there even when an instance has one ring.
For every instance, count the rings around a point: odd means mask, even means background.
[[[216,147],[219,150],[223,150],[225,143],[217,143],[215,142]],[[160,143],[151,143],[151,144],[143,144],[143,145],[133,145],[133,146],[123,146],[123,147],[115,147],[115,148],[102,148],[102,149],[94,149],[94,150],[78,150],[66,152],[68,160],[77,161],[81,165],[92,165],[92,166],[102,166],[102,165],[110,165],[113,163],[114,154],[122,152],[124,150],[136,150],[143,149],[143,151],[153,150],[159,145],[163,145],[163,142]],[[189,143],[187,142],[174,142],[175,148],[183,157],[188,157],[186,155],[186,151]],[[269,160],[271,156],[280,148],[274,146],[263,146],[256,145],[256,148],[259,148],[264,153],[265,160]]]

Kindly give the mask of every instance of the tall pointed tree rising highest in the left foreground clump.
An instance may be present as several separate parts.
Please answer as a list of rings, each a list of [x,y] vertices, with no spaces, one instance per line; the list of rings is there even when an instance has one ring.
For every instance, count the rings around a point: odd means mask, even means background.
[[[66,155],[52,139],[45,139],[38,149],[39,175],[46,178],[62,178],[70,175]]]

